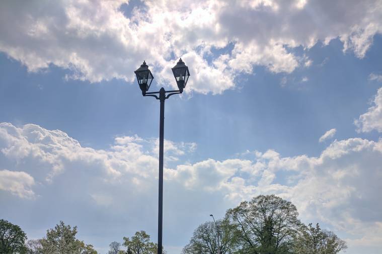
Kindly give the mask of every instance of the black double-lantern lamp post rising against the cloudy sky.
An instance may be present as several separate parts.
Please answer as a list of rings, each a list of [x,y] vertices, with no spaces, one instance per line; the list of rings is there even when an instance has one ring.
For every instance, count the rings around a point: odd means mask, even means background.
[[[178,63],[172,68],[175,80],[177,82],[179,90],[166,91],[165,88],[161,88],[159,92],[147,92],[151,85],[152,76],[151,71],[148,69],[146,62],[134,71],[138,80],[139,88],[142,91],[143,96],[152,96],[160,100],[160,122],[159,122],[159,194],[158,194],[158,254],[162,254],[162,225],[163,225],[163,138],[164,138],[164,126],[165,126],[165,100],[173,94],[182,93],[186,87],[190,72],[188,67],[179,59]],[[168,93],[168,94],[166,94]],[[156,95],[159,94],[159,97]]]

